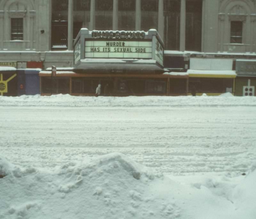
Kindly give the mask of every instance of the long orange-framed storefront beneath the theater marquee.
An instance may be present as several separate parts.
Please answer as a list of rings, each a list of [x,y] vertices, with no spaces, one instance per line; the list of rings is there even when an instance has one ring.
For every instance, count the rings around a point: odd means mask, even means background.
[[[41,71],[41,95],[70,94],[93,96],[98,84],[101,84],[102,96],[143,96],[167,95],[169,76],[139,74],[84,74],[58,69],[56,77],[51,71]]]

